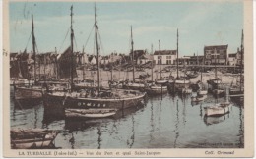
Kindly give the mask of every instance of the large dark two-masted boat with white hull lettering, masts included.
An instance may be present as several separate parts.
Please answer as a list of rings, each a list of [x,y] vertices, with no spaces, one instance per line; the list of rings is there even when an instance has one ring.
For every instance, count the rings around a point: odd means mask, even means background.
[[[73,38],[74,31],[72,27],[73,6],[71,7],[71,49],[70,55],[73,59]],[[99,57],[99,45],[97,41],[98,26],[96,23],[96,11],[95,11],[95,31],[96,31],[96,53],[97,59]],[[71,60],[73,61],[73,60]],[[73,66],[73,64],[71,64]],[[74,68],[74,67],[72,67]],[[64,109],[102,109],[102,108],[114,108],[124,109],[134,107],[144,103],[145,92],[136,90],[125,89],[100,89],[100,77],[99,77],[99,61],[97,61],[97,89],[88,89],[85,91],[74,91],[71,86],[70,92],[52,92],[45,94],[45,102],[50,106],[54,105],[54,102],[62,103]],[[73,74],[71,74],[71,85],[73,85]],[[53,104],[51,104],[53,103]]]

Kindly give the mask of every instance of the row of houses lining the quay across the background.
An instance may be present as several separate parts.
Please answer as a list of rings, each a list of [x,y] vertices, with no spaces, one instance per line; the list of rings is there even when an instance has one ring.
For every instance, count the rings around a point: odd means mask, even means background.
[[[68,49],[67,49],[68,50]],[[66,50],[66,51],[67,51]],[[36,61],[40,64],[55,63],[62,54],[56,52],[47,52],[36,55]],[[134,62],[138,65],[154,61],[157,65],[175,65],[177,64],[177,50],[156,50],[153,54],[147,50],[135,50],[133,52]],[[111,53],[107,56],[99,56],[101,65],[107,64],[123,64],[132,60],[132,53],[129,55],[121,53]],[[90,55],[81,52],[75,52],[74,56],[76,65],[97,63],[96,55]],[[17,59],[26,59],[28,63],[33,63],[32,53],[11,53],[10,62]],[[241,51],[239,48],[235,53],[228,54],[228,45],[212,45],[204,47],[204,55],[182,56],[178,58],[181,65],[230,65],[236,66],[241,63]]]

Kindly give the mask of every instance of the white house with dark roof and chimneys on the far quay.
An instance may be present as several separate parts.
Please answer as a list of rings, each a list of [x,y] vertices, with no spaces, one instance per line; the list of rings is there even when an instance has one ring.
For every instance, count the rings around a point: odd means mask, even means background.
[[[158,50],[154,52],[154,61],[156,64],[174,64],[177,58],[177,50]]]

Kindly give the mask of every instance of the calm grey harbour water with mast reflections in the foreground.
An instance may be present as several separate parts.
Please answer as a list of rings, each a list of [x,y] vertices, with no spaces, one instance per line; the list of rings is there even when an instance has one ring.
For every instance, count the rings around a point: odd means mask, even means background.
[[[149,97],[144,106],[119,110],[111,118],[82,120],[53,116],[42,103],[17,106],[12,99],[10,120],[12,128],[60,130],[55,145],[64,149],[243,148],[243,107],[231,103],[229,114],[204,117],[203,108],[215,102],[211,95],[191,103],[191,95],[164,94]]]

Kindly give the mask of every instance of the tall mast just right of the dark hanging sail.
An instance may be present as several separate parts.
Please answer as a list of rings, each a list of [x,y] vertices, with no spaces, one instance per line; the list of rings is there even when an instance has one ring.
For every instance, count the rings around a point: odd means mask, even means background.
[[[73,5],[71,6],[70,8],[71,10],[71,13],[70,13],[70,17],[71,17],[71,26],[70,26],[70,31],[71,31],[71,34],[70,34],[70,40],[71,40],[71,45],[70,45],[70,49],[71,49],[71,91],[73,90],[73,72],[74,72],[74,66],[73,66],[73,38],[74,38],[74,30],[73,30],[73,26],[72,26],[72,23],[73,23]]]

